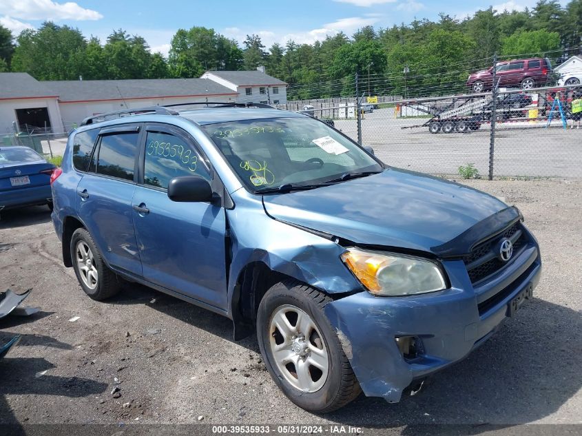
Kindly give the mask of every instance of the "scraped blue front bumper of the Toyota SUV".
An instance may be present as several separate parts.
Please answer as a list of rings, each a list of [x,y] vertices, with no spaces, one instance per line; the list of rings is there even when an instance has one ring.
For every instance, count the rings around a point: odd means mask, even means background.
[[[406,297],[361,292],[327,304],[326,316],[366,396],[398,402],[414,380],[462,360],[490,338],[512,315],[512,302],[539,282],[537,247],[521,256],[483,289],[472,286],[456,260],[443,262],[451,283],[444,291]],[[493,294],[481,304],[483,295]]]

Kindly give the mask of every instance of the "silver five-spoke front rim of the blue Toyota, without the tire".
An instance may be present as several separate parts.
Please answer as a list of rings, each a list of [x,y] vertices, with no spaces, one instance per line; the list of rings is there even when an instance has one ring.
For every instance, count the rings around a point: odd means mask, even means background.
[[[285,380],[299,391],[319,391],[329,373],[329,356],[318,326],[298,307],[285,304],[271,315],[269,345]]]

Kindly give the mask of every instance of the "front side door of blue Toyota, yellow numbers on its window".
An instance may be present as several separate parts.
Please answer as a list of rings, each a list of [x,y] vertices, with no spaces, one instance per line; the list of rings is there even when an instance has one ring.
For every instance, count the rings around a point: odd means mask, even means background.
[[[163,124],[146,125],[139,165],[132,207],[144,278],[225,309],[225,209],[167,196],[174,177],[198,175],[220,183],[218,176],[189,134]]]

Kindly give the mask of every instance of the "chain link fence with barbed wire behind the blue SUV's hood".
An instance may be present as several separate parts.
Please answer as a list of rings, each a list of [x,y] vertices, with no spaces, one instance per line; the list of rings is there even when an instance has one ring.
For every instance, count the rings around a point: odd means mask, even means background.
[[[430,92],[428,92],[430,94]],[[289,102],[388,165],[465,178],[582,178],[582,85]],[[495,104],[494,104],[495,101]],[[574,105],[574,107],[573,107]]]

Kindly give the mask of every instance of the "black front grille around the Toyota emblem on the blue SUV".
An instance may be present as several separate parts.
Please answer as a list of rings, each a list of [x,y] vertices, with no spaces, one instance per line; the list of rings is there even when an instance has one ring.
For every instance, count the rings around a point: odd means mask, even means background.
[[[518,232],[519,234],[516,234]],[[519,251],[526,245],[526,236],[521,230],[519,222],[516,222],[493,238],[476,245],[470,253],[463,256],[463,261],[472,283],[479,282],[479,280],[483,280],[506,266],[507,263],[499,260],[497,253],[494,252],[497,243],[503,238],[508,238],[512,241],[514,257],[518,256]]]

